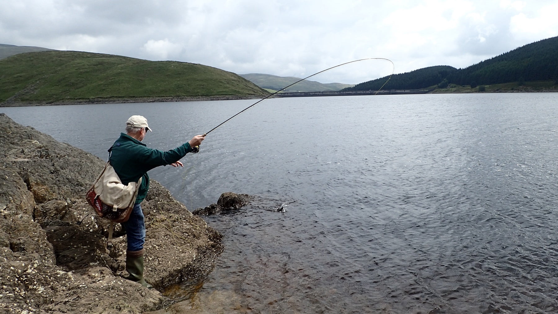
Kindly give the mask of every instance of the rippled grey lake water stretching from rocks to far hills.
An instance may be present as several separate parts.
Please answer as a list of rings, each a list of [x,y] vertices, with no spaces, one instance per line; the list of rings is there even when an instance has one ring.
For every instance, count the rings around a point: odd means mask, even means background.
[[[0,112],[106,158],[131,115],[147,117],[148,146],[167,150],[254,102]],[[557,137],[558,93],[267,99],[211,132],[184,168],[150,172],[190,210],[223,192],[258,197],[204,217],[226,249],[183,304],[558,312]]]

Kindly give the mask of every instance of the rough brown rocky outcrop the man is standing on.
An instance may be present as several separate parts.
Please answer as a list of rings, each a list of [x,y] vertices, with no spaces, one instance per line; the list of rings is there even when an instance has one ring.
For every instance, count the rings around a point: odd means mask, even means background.
[[[156,289],[123,279],[126,236],[108,251],[108,221],[84,198],[103,165],[0,113],[0,312],[157,310],[169,302],[157,289],[213,268],[222,236],[152,181],[142,208],[145,277]]]

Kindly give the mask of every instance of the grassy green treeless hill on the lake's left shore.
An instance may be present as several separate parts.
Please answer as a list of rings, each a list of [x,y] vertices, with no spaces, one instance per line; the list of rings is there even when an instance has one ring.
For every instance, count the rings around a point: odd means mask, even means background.
[[[0,106],[267,95],[237,74],[201,64],[80,51],[22,53],[0,60]]]

